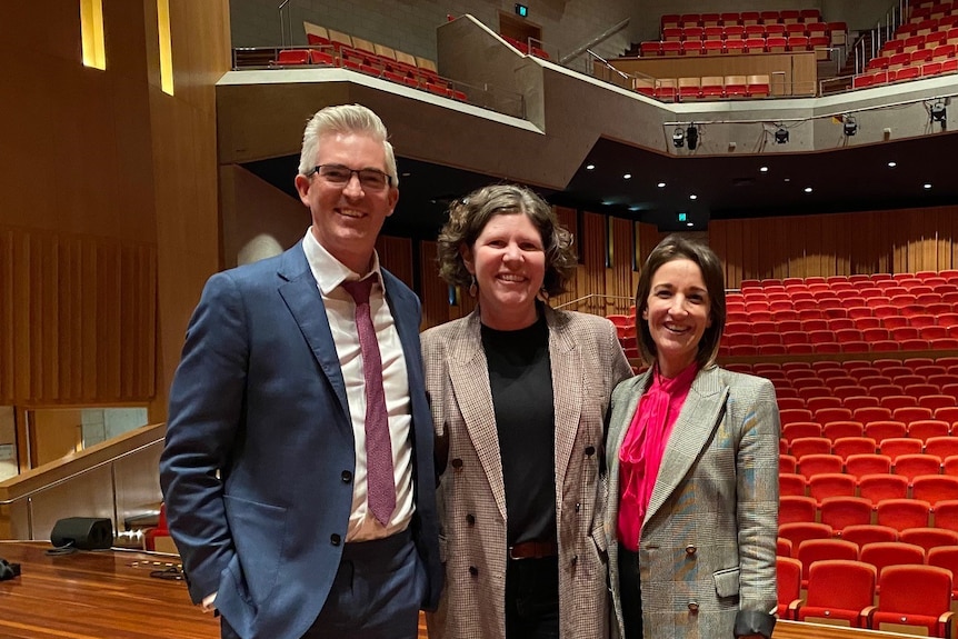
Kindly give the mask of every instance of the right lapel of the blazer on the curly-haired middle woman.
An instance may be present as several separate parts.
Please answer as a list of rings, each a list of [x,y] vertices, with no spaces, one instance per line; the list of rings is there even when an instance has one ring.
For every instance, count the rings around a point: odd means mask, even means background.
[[[576,342],[569,339],[560,317],[545,307],[549,326],[549,360],[552,369],[552,407],[555,411],[557,503],[561,503],[561,487],[572,457],[582,408],[582,367]]]

